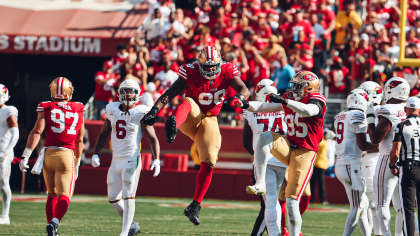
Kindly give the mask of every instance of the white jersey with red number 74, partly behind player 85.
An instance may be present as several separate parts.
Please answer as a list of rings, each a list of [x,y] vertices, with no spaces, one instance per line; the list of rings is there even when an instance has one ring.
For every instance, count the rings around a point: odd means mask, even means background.
[[[287,125],[284,122],[284,111],[268,113],[253,113],[245,111],[244,117],[252,129],[252,147],[254,151],[257,148],[257,142],[262,132],[273,131],[286,135]],[[274,156],[271,156],[267,164],[287,168],[285,164],[277,160]]]

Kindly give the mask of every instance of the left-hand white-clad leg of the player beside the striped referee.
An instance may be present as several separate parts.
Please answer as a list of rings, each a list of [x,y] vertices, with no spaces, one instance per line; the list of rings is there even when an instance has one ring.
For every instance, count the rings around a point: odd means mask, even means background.
[[[374,191],[376,196],[376,209],[378,210],[379,225],[383,236],[391,236],[391,213],[389,206],[398,182],[398,177],[393,176],[388,169],[389,156],[383,156],[378,162]]]

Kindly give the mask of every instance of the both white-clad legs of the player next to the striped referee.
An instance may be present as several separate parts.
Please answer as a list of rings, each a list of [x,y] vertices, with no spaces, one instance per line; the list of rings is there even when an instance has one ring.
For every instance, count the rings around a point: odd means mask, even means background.
[[[403,214],[398,190],[398,176],[391,174],[389,170],[389,156],[381,156],[376,165],[375,177],[373,179],[373,191],[376,198],[376,209],[378,220],[383,236],[391,236],[391,203],[397,212],[395,219],[395,236],[403,235]]]

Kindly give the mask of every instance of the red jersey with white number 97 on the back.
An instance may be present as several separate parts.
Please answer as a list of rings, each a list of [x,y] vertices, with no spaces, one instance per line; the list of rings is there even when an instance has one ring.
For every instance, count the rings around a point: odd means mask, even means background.
[[[85,106],[79,102],[41,102],[37,112],[45,115],[45,147],[64,147],[74,151],[83,125]]]

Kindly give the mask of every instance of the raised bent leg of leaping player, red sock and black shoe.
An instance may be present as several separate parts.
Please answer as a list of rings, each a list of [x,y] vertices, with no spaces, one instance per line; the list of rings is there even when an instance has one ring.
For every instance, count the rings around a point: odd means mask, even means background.
[[[172,143],[175,140],[175,137],[178,133],[178,129],[181,127],[181,125],[184,124],[188,118],[189,120],[191,120],[192,118],[201,119],[200,113],[201,113],[200,108],[194,102],[193,99],[191,98],[183,99],[182,102],[172,112],[172,115],[169,116],[165,122],[166,141],[168,143]],[[187,121],[187,123],[189,122]],[[190,136],[190,138],[192,139],[192,136]]]

